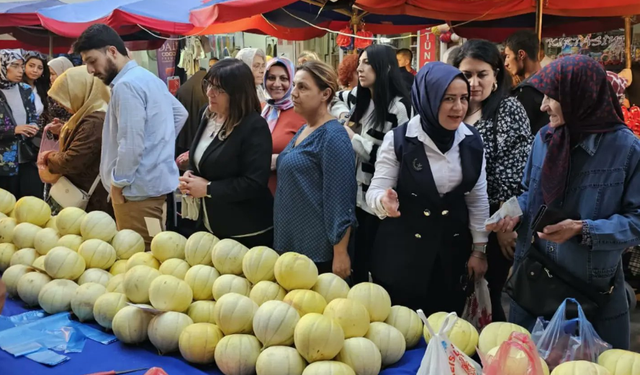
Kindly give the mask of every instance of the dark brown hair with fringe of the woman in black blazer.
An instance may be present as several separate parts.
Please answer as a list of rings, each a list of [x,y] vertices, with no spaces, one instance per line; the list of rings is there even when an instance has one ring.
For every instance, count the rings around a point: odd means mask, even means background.
[[[255,78],[242,60],[223,59],[214,64],[202,81],[205,95],[209,85],[219,86],[229,96],[229,113],[220,130],[222,137],[229,135],[252,111],[259,114],[262,110]]]

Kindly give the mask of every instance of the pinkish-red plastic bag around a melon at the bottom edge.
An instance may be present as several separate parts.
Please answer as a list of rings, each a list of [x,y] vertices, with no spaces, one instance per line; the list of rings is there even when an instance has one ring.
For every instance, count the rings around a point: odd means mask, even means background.
[[[484,356],[482,365],[483,375],[544,375],[533,340],[521,332],[513,332],[495,355]]]

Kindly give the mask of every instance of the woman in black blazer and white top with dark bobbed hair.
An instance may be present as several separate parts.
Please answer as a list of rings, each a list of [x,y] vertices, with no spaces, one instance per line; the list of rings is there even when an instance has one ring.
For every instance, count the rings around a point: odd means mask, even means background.
[[[271,247],[271,132],[260,116],[253,74],[240,60],[222,60],[205,76],[203,89],[209,106],[180,191],[200,202],[200,230],[249,248]]]

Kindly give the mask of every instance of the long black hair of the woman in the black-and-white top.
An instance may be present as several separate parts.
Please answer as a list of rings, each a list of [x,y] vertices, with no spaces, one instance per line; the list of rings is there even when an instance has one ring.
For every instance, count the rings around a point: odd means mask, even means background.
[[[364,52],[367,53],[369,65],[376,73],[376,81],[373,84],[374,109],[371,116],[374,127],[381,130],[384,127],[391,102],[398,96],[409,100],[409,93],[405,80],[400,75],[398,59],[392,47],[374,44],[367,47]],[[371,104],[371,99],[371,90],[362,87],[358,82],[358,97],[356,98],[356,109],[353,112],[354,122],[364,120],[363,117]]]

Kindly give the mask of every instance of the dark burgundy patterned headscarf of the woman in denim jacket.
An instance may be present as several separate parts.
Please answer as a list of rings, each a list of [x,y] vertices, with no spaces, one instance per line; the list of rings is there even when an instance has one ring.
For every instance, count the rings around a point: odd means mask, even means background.
[[[614,131],[624,124],[622,109],[607,73],[594,59],[567,56],[545,66],[531,80],[538,91],[560,102],[565,125],[549,129],[542,168],[542,195],[546,204],[562,198],[567,185],[571,140],[585,134]]]

